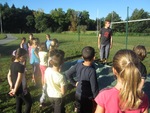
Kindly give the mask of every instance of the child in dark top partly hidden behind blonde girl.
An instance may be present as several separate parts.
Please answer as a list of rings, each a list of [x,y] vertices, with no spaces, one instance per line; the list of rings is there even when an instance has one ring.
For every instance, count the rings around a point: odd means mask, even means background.
[[[133,48],[133,51],[137,54],[139,60],[140,60],[140,64],[141,64],[141,84],[139,86],[139,88],[142,90],[144,83],[145,83],[145,79],[147,76],[147,70],[146,67],[144,66],[144,64],[142,63],[142,61],[145,59],[147,52],[146,52],[146,48],[143,45],[138,45],[136,47]]]

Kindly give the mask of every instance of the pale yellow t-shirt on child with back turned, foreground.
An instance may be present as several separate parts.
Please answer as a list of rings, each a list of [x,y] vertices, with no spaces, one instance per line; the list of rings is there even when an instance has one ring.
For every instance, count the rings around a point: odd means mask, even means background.
[[[47,84],[48,96],[53,98],[61,98],[62,93],[60,88],[66,84],[63,75],[48,67],[45,70],[45,81]]]

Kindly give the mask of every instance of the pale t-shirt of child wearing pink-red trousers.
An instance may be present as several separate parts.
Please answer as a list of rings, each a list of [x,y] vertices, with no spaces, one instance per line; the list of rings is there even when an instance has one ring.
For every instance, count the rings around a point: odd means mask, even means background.
[[[45,51],[39,51],[39,59],[40,59],[40,65],[47,66],[48,63],[48,56],[47,52]]]

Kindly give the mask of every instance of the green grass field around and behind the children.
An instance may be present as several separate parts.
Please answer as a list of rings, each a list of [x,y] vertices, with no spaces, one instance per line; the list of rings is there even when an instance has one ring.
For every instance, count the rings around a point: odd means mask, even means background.
[[[22,37],[26,37],[28,39],[28,34],[12,34],[18,37],[18,40],[13,41],[9,44],[0,45],[0,112],[1,113],[15,113],[15,99],[10,98],[7,95],[9,91],[9,86],[7,83],[7,72],[10,66],[11,53],[13,50],[19,47],[19,43]],[[3,37],[0,35],[0,37]],[[40,39],[40,42],[45,41],[45,34],[34,34],[34,37]],[[82,34],[80,35],[80,41],[78,41],[78,34],[51,34],[51,38],[56,38],[60,42],[59,49],[64,50],[66,60],[73,61],[75,59],[81,58],[81,50],[83,47],[89,45],[95,48],[96,50],[96,59],[99,59],[99,49],[97,48],[97,37],[95,35]],[[0,38],[2,39],[2,38]],[[143,61],[143,63],[147,67],[148,74],[150,74],[150,37],[149,36],[129,36],[127,48],[132,49],[134,46],[140,44],[144,45],[147,49],[148,55],[147,58]],[[126,37],[125,36],[113,36],[113,48],[110,51],[109,62],[112,61],[112,58],[116,51],[120,49],[126,48]],[[29,86],[29,90],[33,97],[33,106],[32,113],[47,113],[51,112],[50,107],[44,107],[43,109],[39,108],[39,98],[41,95],[41,87],[34,87],[31,83],[31,66],[29,63],[27,64],[27,83]],[[147,79],[147,83],[150,82],[149,78]],[[149,86],[149,84],[148,84]],[[149,86],[150,88],[150,86]],[[67,94],[65,96],[65,108],[66,113],[73,113],[73,100],[74,100],[74,91],[75,89],[72,86],[68,86]],[[47,100],[48,103],[48,100]],[[49,103],[48,103],[49,104]],[[6,107],[7,106],[7,107]]]

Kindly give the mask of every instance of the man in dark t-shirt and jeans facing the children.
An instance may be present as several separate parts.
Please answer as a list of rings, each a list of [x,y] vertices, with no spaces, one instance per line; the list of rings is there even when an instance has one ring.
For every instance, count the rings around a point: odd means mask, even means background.
[[[100,49],[100,61],[107,63],[110,48],[112,48],[112,29],[110,28],[110,21],[105,21],[105,26],[100,30],[98,36],[98,48]]]

